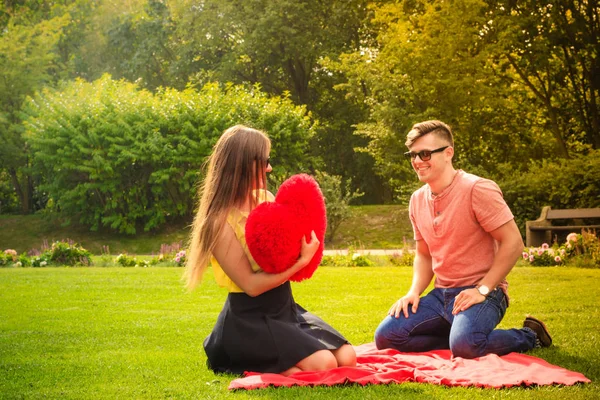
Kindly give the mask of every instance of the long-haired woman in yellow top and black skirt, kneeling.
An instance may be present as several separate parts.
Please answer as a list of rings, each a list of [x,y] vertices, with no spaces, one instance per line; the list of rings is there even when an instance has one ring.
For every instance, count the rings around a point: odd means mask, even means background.
[[[237,125],[223,133],[208,160],[192,228],[187,283],[194,287],[211,263],[217,283],[229,295],[204,341],[207,364],[215,372],[285,375],[353,366],[356,354],[348,341],[292,296],[288,279],[317,251],[315,233],[310,242],[303,239],[296,263],[278,274],[263,272],[246,246],[248,214],[273,200],[266,190],[270,150],[264,133]]]

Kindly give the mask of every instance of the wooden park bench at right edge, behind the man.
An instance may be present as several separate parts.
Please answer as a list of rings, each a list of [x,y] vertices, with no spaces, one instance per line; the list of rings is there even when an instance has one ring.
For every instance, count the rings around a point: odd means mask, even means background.
[[[542,208],[542,214],[535,221],[525,223],[525,245],[541,246],[552,243],[552,232],[581,232],[584,229],[600,229],[600,225],[586,225],[584,219],[600,219],[600,208],[577,208],[553,210],[550,206]],[[554,220],[572,222],[571,225],[552,225]]]

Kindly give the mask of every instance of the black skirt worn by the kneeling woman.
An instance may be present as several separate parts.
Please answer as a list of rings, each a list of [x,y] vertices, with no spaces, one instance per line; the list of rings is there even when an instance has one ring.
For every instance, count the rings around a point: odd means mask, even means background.
[[[296,304],[286,282],[256,297],[229,293],[204,350],[215,372],[281,373],[318,350],[347,343],[325,321]]]

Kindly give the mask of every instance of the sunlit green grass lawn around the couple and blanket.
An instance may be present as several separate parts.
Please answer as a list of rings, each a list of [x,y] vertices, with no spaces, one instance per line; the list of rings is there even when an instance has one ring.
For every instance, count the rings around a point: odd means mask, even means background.
[[[430,384],[278,388],[230,392],[206,366],[202,340],[226,293],[211,273],[194,292],[180,268],[1,268],[1,399],[597,399],[600,270],[517,267],[501,327],[543,319],[555,345],[530,354],[579,371],[591,384],[511,389]],[[353,344],[373,340],[411,268],[322,267],[294,284],[298,303]]]

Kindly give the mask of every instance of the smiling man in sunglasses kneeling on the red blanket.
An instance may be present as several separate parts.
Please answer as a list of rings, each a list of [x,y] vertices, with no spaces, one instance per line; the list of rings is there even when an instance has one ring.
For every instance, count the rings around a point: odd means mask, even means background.
[[[375,332],[379,349],[450,349],[456,357],[550,346],[543,322],[494,329],[508,307],[506,276],[523,251],[512,212],[496,183],[454,169],[454,139],[441,121],[408,133],[405,153],[419,180],[409,214],[416,241],[412,285]],[[435,288],[420,297],[435,275]]]

